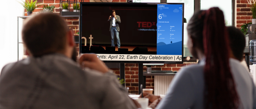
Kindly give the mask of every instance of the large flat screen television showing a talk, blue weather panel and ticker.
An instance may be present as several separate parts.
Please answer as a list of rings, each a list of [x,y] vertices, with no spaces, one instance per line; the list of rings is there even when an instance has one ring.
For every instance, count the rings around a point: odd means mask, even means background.
[[[184,3],[80,3],[80,52],[104,62],[183,63]]]

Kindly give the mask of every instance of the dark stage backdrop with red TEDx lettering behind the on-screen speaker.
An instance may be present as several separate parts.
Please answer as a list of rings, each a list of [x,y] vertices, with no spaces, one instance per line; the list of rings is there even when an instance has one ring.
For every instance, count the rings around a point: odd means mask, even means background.
[[[157,5],[150,5],[150,7],[148,5],[144,5],[147,7],[143,7],[143,5],[114,6],[117,5],[106,7],[106,5],[86,4],[82,6],[82,37],[86,37],[87,45],[90,44],[90,35],[93,37],[92,44],[111,45],[108,18],[112,15],[112,10],[115,10],[116,15],[121,19],[119,24],[121,46],[157,45]],[[116,44],[116,36],[114,42]]]

